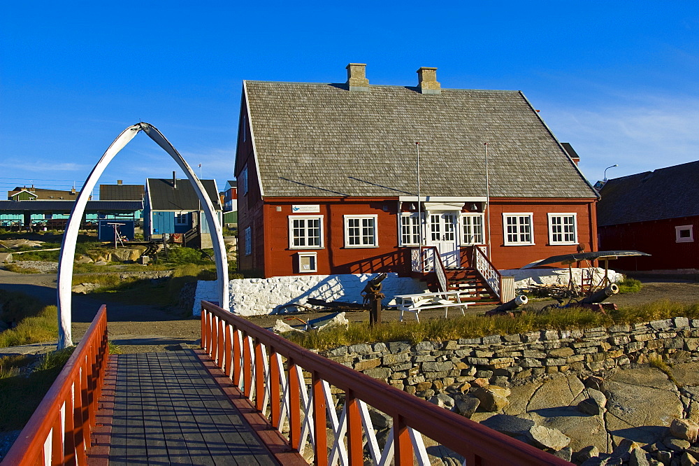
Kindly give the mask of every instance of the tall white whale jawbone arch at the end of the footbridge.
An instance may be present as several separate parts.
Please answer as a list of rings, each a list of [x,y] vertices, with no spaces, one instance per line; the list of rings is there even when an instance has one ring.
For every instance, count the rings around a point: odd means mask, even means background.
[[[228,259],[226,257],[226,248],[223,242],[221,224],[216,216],[214,206],[211,199],[206,194],[201,181],[196,177],[192,167],[182,158],[182,155],[173,147],[165,136],[158,129],[148,123],[138,123],[124,129],[117,139],[107,148],[102,158],[97,162],[87,177],[87,181],[82,185],[82,190],[75,199],[75,205],[71,216],[66,225],[66,232],[63,235],[63,243],[61,245],[61,255],[58,262],[58,279],[57,279],[57,302],[58,302],[58,349],[73,346],[73,337],[71,330],[72,323],[72,288],[73,288],[73,260],[75,258],[75,242],[78,240],[78,230],[80,230],[80,222],[85,214],[85,207],[89,199],[89,193],[92,192],[99,177],[109,162],[112,161],[115,155],[126,146],[131,139],[134,139],[138,132],[144,131],[150,136],[150,139],[155,141],[158,146],[163,148],[166,153],[173,157],[182,171],[185,172],[189,182],[192,183],[196,195],[199,197],[201,206],[203,206],[208,223],[211,240],[214,246],[214,255],[216,260],[217,271],[217,288],[219,296],[219,305],[222,308],[229,310],[228,296]]]

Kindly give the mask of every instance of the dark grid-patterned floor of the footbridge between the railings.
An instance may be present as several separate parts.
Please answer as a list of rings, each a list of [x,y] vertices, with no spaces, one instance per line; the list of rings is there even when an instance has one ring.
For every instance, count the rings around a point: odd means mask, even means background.
[[[192,350],[112,355],[109,464],[275,465]]]

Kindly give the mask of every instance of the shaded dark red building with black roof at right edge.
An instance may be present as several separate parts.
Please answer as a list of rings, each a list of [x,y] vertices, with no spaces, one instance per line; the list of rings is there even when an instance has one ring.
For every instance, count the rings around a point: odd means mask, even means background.
[[[600,195],[600,249],[651,255],[619,258],[615,268],[699,269],[699,161],[614,178]]]

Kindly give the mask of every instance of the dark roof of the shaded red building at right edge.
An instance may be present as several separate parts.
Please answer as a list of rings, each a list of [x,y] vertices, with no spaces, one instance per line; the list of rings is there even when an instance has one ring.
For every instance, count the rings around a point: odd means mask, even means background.
[[[699,216],[699,161],[607,181],[597,224]]]

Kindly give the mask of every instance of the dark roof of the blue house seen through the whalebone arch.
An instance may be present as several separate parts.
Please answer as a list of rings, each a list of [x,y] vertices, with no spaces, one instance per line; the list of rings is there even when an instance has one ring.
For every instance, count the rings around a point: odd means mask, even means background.
[[[214,180],[199,180],[214,204],[221,210],[221,201]],[[177,188],[173,189],[172,179],[148,178],[147,190],[150,192],[150,206],[156,211],[196,211],[201,210],[192,183],[189,180],[178,180]]]

